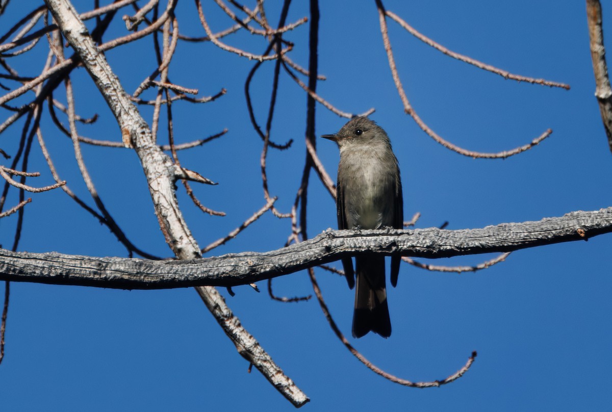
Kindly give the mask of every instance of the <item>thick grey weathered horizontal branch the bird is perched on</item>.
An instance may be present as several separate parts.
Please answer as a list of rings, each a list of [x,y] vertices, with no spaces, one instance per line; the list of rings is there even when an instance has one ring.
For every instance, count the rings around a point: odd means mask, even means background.
[[[194,260],[97,258],[0,249],[0,280],[118,289],[234,286],[271,279],[346,255],[369,252],[447,258],[512,252],[612,232],[612,208],[571,212],[537,222],[482,229],[327,230],[313,239],[270,252],[242,252]]]

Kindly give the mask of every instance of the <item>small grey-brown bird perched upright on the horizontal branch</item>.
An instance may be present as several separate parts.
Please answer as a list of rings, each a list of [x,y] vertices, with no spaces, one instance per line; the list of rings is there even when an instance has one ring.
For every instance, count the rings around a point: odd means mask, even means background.
[[[336,207],[339,229],[403,228],[403,198],[397,159],[382,127],[366,117],[346,123],[335,135],[323,135],[340,148]],[[397,285],[400,256],[391,258],[391,283]],[[384,256],[360,253],[355,257],[357,287],[353,336],[375,332],[391,335],[385,285]],[[353,260],[343,258],[346,280],[355,285]]]

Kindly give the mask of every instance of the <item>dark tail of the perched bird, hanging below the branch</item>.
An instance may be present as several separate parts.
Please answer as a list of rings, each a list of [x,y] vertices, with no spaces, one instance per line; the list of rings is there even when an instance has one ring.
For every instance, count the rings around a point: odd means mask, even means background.
[[[391,335],[389,306],[385,288],[384,256],[355,258],[357,288],[353,313],[353,336],[372,331],[382,337]]]

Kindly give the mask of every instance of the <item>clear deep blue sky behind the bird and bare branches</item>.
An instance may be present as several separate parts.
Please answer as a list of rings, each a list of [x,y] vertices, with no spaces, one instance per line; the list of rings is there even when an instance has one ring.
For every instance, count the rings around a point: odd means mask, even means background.
[[[12,1],[0,17],[6,28],[32,2]],[[106,3],[106,2],[104,2]],[[278,4],[267,4],[272,24]],[[294,2],[288,21],[308,15]],[[463,1],[384,2],[416,29],[458,53],[520,75],[570,84],[570,91],[504,80],[431,49],[388,21],[398,70],[412,106],[439,135],[466,149],[502,151],[526,144],[546,129],[550,138],[506,160],[471,159],[427,137],[403,113],[390,76],[374,2],[321,2],[319,70],[327,76],[318,92],[352,113],[371,116],[390,135],[400,162],[405,215],[422,214],[417,227],[479,228],[503,222],[540,220],[570,211],[610,206],[606,181],[612,155],[594,97],[584,2]],[[75,1],[80,12],[91,2]],[[606,44],[612,44],[612,9],[603,4]],[[231,21],[205,2],[214,31]],[[120,12],[120,15],[127,13]],[[179,2],[181,32],[204,36],[191,2]],[[612,18],[612,17],[610,17]],[[118,18],[105,40],[125,34]],[[92,24],[90,21],[89,24]],[[296,43],[291,58],[307,66],[307,24],[286,36]],[[266,43],[250,34],[226,42],[253,53]],[[23,75],[42,67],[44,45],[13,59]],[[38,54],[36,54],[38,53]],[[150,38],[106,57],[127,91],[155,68]],[[13,64],[13,63],[11,63]],[[265,203],[259,171],[261,140],[248,121],[244,79],[254,62],[210,43],[179,43],[171,79],[208,96],[228,93],[206,105],[174,105],[179,142],[207,137],[228,127],[223,138],[181,152],[182,164],[217,186],[196,186],[206,206],[226,217],[204,215],[179,190],[179,203],[200,246],[225,236]],[[253,81],[255,111],[265,123],[273,64]],[[82,135],[120,140],[118,128],[87,73],[74,73],[82,116],[99,113]],[[145,95],[154,96],[153,91]],[[59,94],[59,100],[65,97]],[[26,102],[25,97],[19,100]],[[270,190],[289,212],[305,158],[304,92],[286,75],[280,79],[272,140],[294,139],[291,149],[270,151]],[[141,109],[147,120],[151,108]],[[332,133],[345,119],[321,105],[316,133]],[[0,110],[2,121],[9,115]],[[14,151],[23,121],[7,129],[0,147]],[[72,143],[43,118],[43,133],[70,187],[88,199],[73,160]],[[163,133],[160,141],[164,141]],[[319,140],[318,152],[335,179],[338,150]],[[138,247],[170,256],[151,206],[138,159],[126,149],[83,146],[85,160],[106,207]],[[33,149],[31,170],[50,184]],[[335,205],[311,176],[308,235],[335,228]],[[192,185],[193,186],[193,185]],[[26,206],[20,250],[125,257],[110,231],[59,190],[32,195]],[[13,193],[7,204],[17,203]],[[0,221],[0,243],[12,244],[15,216]],[[266,214],[237,239],[208,256],[281,247],[289,220]],[[607,410],[612,365],[612,279],[610,235],[513,253],[486,271],[426,272],[404,264],[398,287],[389,291],[393,334],[351,340],[387,372],[413,381],[442,379],[479,353],[463,378],[442,388],[412,389],[390,383],[357,361],[335,338],[316,301],[282,304],[250,287],[234,288],[228,304],[272,358],[310,397],[304,410],[388,411],[575,411]],[[438,260],[478,264],[493,255]],[[420,260],[426,262],[426,260]],[[353,291],[346,281],[316,271],[326,302],[341,330],[350,335]],[[312,293],[305,272],[274,281],[275,293]],[[0,365],[2,410],[293,410],[248,365],[218,328],[192,289],[120,291],[12,283],[6,356]]]

